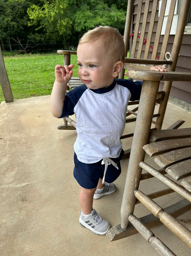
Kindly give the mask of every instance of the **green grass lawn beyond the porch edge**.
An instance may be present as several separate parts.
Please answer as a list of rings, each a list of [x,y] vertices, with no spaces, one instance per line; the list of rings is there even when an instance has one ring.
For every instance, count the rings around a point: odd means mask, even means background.
[[[61,54],[33,54],[4,56],[5,67],[8,73],[14,99],[33,96],[49,95],[54,83],[54,67],[63,65],[64,56]],[[77,56],[71,56],[74,64],[73,76],[77,76]],[[0,102],[4,101],[0,87]]]

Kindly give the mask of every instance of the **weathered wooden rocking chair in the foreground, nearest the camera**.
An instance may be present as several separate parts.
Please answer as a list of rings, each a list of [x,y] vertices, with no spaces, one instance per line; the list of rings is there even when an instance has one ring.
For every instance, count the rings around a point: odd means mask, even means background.
[[[141,2],[142,1],[139,1],[138,9],[141,9]],[[160,15],[162,12],[164,13],[164,9],[162,10],[162,8],[164,8],[165,2],[166,1],[162,1]],[[175,4],[176,1],[171,1],[170,10],[172,10],[172,13],[169,13],[169,16],[173,15]],[[171,52],[171,60],[170,62],[168,62],[169,72],[159,73],[153,71],[133,70],[129,69],[128,66],[127,76],[131,77],[132,79],[142,79],[143,87],[139,101],[139,110],[137,113],[137,120],[135,124],[132,149],[129,158],[123,201],[121,205],[121,224],[114,226],[107,233],[110,241],[114,241],[139,232],[148,242],[151,243],[151,245],[160,255],[175,255],[175,253],[173,253],[160,239],[155,237],[149,229],[161,223],[166,225],[169,230],[171,230],[178,238],[182,240],[182,242],[184,242],[188,247],[191,248],[190,230],[188,230],[184,225],[182,225],[179,221],[175,219],[175,217],[191,209],[191,203],[189,203],[191,202],[191,128],[177,130],[160,130],[172,81],[191,81],[191,73],[174,72],[189,5],[189,0],[182,1],[177,31]],[[153,8],[155,12],[156,6],[157,1],[153,1]],[[146,9],[149,9],[149,1],[145,1],[144,10]],[[128,1],[127,16],[132,17],[132,11],[133,1]],[[144,11],[144,17],[147,16],[145,12],[146,11]],[[152,15],[153,14],[151,14],[151,21]],[[139,12],[137,16],[139,16]],[[146,23],[146,18],[144,19],[144,17],[143,23]],[[153,26],[151,23],[153,22],[150,22],[150,26]],[[159,17],[158,26],[162,27],[161,23],[162,20]],[[167,22],[167,24],[169,23]],[[142,28],[143,27],[145,29],[146,25],[142,24]],[[170,31],[170,27],[166,27],[166,31],[167,30]],[[129,35],[129,32],[127,32],[127,34]],[[148,35],[147,38],[149,39],[150,37],[151,35]],[[165,34],[163,43],[166,43],[166,38],[167,35]],[[157,39],[155,39],[155,42],[157,43]],[[135,48],[135,46],[132,46],[132,50],[133,48]],[[137,55],[141,53],[141,51],[142,46],[138,47]],[[162,44],[160,58],[161,56],[163,57],[165,55],[165,51],[166,48],[164,48]],[[154,47],[153,52],[154,55],[157,52],[156,50],[154,51]],[[132,58],[126,59],[125,63],[144,63],[143,59],[140,59],[140,55],[138,55],[138,57],[138,61],[137,59]],[[150,60],[147,60],[146,63],[164,64],[164,62],[158,63],[157,60],[152,60],[152,62]],[[126,67],[126,64],[124,64],[124,67]],[[138,69],[137,66],[136,69]],[[151,131],[154,107],[156,103],[159,83],[161,80],[165,81],[165,95],[164,100],[159,107],[160,116],[157,117],[157,121],[155,124],[157,130]],[[161,109],[162,112],[160,112]],[[151,144],[148,144],[149,142]],[[149,156],[156,156],[154,158],[154,161],[157,163],[157,165],[159,165],[159,167],[162,168],[161,170],[153,168],[147,163],[147,160],[144,159],[145,152],[147,152]],[[142,169],[146,170],[147,173],[142,174]],[[166,173],[168,173],[172,177],[172,179],[166,177],[164,175]],[[146,195],[139,190],[140,180],[153,177],[166,184],[168,188]],[[184,178],[184,180],[181,181],[181,184],[177,184],[174,181],[182,178]],[[177,192],[185,199],[176,203],[173,206],[168,206],[165,209],[163,209],[152,200],[153,198],[161,197],[164,195],[167,196],[169,193],[172,192]],[[137,218],[134,215],[134,208],[135,204],[140,202],[152,214]]]

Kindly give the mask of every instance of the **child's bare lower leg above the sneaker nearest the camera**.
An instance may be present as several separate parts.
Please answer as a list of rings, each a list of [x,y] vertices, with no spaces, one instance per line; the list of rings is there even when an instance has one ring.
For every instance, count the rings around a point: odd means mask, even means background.
[[[86,189],[81,188],[80,191],[80,206],[83,214],[87,215],[93,210],[93,199],[96,188]]]

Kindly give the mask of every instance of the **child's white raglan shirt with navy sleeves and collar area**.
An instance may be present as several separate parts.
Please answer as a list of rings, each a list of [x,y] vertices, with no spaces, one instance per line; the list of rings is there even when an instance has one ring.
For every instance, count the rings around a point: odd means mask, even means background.
[[[142,82],[115,79],[104,88],[81,85],[69,91],[59,118],[76,114],[74,150],[79,161],[95,163],[119,157],[129,100],[139,100]]]

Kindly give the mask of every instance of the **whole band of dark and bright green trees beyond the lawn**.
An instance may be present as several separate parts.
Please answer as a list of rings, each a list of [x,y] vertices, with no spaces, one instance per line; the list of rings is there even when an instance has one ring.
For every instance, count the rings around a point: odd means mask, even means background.
[[[127,0],[0,0],[1,44],[66,45],[97,25],[123,33],[126,6]]]

